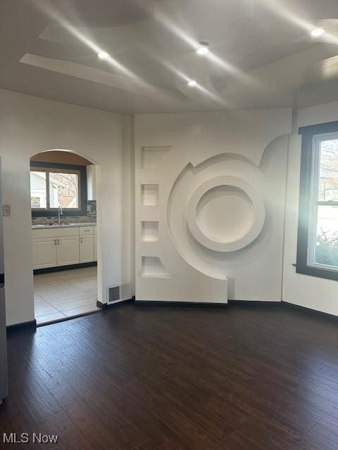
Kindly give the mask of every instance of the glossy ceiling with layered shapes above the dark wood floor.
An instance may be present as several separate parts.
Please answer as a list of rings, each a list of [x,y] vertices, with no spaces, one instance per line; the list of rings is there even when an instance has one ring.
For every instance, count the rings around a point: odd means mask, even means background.
[[[0,18],[1,89],[122,114],[338,100],[337,0],[1,0]]]

